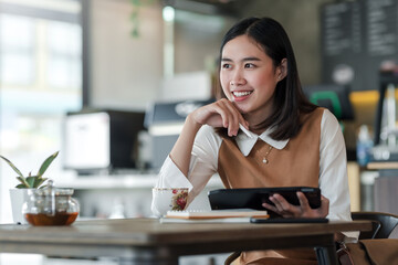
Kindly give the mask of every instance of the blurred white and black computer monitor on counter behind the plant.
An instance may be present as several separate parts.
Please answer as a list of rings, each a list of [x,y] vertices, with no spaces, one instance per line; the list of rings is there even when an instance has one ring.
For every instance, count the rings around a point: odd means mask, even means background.
[[[63,167],[78,174],[138,169],[143,112],[82,109],[67,113],[63,128]]]

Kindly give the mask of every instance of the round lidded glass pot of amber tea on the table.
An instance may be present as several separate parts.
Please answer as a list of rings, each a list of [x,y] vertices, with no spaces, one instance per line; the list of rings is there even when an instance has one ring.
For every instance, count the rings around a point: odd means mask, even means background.
[[[31,225],[70,225],[80,212],[77,200],[72,198],[73,189],[54,188],[28,191],[22,214]]]

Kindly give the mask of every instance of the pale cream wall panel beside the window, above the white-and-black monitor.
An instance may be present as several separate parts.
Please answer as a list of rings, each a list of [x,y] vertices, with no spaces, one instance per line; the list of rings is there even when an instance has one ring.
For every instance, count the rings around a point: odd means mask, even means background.
[[[128,0],[91,1],[91,102],[95,107],[145,109],[163,77],[161,6],[139,10],[133,38]]]

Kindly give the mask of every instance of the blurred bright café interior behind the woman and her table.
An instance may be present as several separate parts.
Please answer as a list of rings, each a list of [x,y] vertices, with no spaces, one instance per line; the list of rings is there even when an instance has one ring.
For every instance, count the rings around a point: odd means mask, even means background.
[[[247,17],[281,22],[306,95],[339,119],[352,209],[398,214],[397,0],[0,0],[0,155],[28,174],[60,150],[45,176],[75,189],[80,219],[150,216],[156,173],[213,100],[221,39]],[[0,169],[10,223],[15,173]],[[192,208],[221,187],[214,176]],[[109,261],[76,261],[91,263]]]

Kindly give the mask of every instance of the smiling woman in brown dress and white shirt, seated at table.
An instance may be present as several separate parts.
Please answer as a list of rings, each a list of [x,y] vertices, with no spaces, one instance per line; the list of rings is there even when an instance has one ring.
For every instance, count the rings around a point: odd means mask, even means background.
[[[226,188],[320,187],[318,209],[301,192],[298,206],[279,194],[270,198],[274,205],[263,206],[284,218],[350,220],[339,125],[305,99],[293,49],[276,21],[250,18],[227,32],[220,84],[222,98],[187,117],[157,187],[189,187],[188,202],[216,172]],[[316,264],[316,258],[312,250],[259,251],[242,253],[240,262]]]

